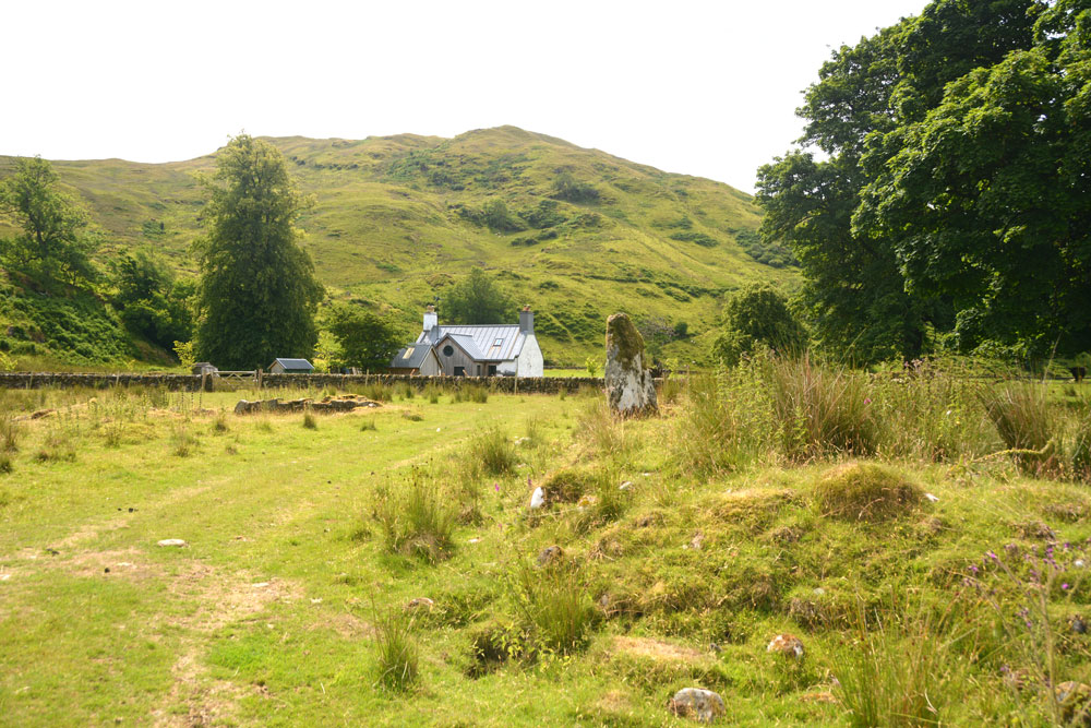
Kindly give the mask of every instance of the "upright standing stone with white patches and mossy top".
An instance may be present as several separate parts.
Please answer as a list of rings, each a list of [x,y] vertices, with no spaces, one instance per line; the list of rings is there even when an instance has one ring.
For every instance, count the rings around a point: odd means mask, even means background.
[[[607,398],[622,417],[652,415],[656,380],[644,367],[644,337],[624,313],[607,319]]]

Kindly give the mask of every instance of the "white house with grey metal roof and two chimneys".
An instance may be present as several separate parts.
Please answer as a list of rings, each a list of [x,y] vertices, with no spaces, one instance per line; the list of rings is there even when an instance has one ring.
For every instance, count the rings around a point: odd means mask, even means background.
[[[440,373],[451,377],[542,377],[542,350],[535,336],[535,313],[519,311],[518,324],[441,326],[435,308],[424,311],[424,326],[416,343],[401,349],[391,369],[431,373],[431,354]],[[417,370],[417,371],[412,371]]]

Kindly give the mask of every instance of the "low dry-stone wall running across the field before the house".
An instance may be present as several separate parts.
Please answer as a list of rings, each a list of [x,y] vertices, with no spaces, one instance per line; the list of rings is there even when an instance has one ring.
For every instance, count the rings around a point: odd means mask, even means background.
[[[263,374],[263,387],[326,389],[345,390],[369,384],[409,384],[422,390],[429,385],[444,391],[455,391],[464,386],[479,385],[490,392],[512,394],[556,394],[575,393],[583,387],[602,389],[602,379],[597,377],[408,377],[405,374]],[[88,387],[148,386],[171,391],[201,390],[200,375],[193,374],[74,374],[64,372],[0,372],[0,389],[36,390],[41,387]],[[235,390],[253,386],[247,380],[219,380],[209,378],[206,389]]]

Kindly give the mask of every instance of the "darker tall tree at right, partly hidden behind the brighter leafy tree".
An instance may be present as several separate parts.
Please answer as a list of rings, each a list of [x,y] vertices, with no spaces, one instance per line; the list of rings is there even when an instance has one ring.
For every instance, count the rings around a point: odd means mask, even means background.
[[[940,104],[946,85],[1029,47],[1034,0],[936,0],[855,46],[842,46],[806,91],[801,147],[758,171],[763,235],[787,242],[805,281],[818,343],[862,361],[915,357],[950,327],[946,295],[907,286],[887,229],[854,218],[897,154],[884,140]]]

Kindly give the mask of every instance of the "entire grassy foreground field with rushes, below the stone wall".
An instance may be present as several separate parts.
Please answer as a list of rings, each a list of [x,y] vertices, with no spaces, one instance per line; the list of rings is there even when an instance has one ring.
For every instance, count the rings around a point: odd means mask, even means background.
[[[1091,498],[1050,452],[1082,462],[1087,396],[1011,449],[996,403],[1031,390],[777,372],[627,422],[596,394],[0,392],[0,724],[688,725],[687,687],[744,725],[1071,718]],[[786,392],[838,394],[791,420]]]

